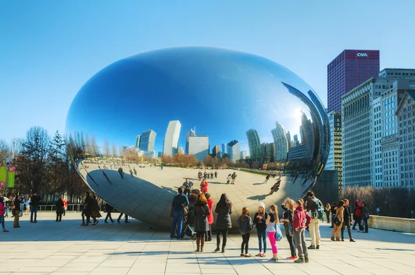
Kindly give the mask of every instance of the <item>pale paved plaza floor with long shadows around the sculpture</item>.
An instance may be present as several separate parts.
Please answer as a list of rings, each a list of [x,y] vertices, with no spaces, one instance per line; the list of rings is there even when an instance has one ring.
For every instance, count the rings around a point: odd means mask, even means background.
[[[103,214],[104,215],[104,214]],[[117,216],[114,214],[113,216]],[[169,233],[151,229],[137,220],[131,223],[80,227],[80,214],[68,213],[55,222],[53,213],[39,212],[39,222],[28,216],[21,228],[0,234],[0,275],[4,274],[415,274],[415,235],[371,229],[353,231],[356,243],[331,242],[331,229],[323,224],[320,250],[309,252],[310,263],[295,264],[286,239],[277,243],[279,263],[267,258],[241,258],[239,234],[230,234],[225,254],[215,253],[214,242],[195,253],[196,243],[169,240]],[[306,234],[310,243],[309,234]],[[250,253],[257,254],[255,231]]]

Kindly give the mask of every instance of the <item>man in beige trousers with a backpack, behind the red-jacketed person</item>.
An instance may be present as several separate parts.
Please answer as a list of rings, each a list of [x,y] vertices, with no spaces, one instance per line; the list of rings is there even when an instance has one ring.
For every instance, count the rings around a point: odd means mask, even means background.
[[[308,247],[308,249],[320,249],[320,220],[318,218],[318,211],[323,211],[323,209],[320,209],[323,207],[323,205],[319,199],[315,198],[313,191],[308,191],[307,197],[308,202],[306,211],[311,211],[311,245]]]

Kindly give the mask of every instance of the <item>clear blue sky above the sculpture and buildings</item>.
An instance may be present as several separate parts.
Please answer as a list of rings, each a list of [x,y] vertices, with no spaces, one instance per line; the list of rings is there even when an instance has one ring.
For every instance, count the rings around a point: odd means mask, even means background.
[[[169,46],[261,55],[326,104],[326,65],[345,48],[380,50],[381,68],[415,67],[413,10],[410,0],[1,1],[0,139],[30,126],[63,132],[73,97],[98,70]]]

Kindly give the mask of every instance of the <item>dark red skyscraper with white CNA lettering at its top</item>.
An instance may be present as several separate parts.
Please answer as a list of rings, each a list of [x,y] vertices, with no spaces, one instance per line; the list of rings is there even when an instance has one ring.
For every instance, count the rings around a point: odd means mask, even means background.
[[[342,111],[342,96],[379,73],[379,50],[343,50],[327,65],[328,112]]]

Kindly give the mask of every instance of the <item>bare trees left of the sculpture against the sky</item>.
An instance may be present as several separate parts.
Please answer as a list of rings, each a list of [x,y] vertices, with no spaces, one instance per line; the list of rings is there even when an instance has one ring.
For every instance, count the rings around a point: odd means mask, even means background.
[[[88,190],[58,131],[50,138],[45,129],[32,127],[24,140],[0,140],[0,165],[6,165],[7,158],[16,167],[15,188],[8,189],[8,195],[41,193],[47,202],[66,193],[69,202],[75,202]]]

